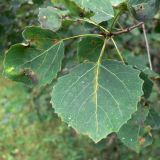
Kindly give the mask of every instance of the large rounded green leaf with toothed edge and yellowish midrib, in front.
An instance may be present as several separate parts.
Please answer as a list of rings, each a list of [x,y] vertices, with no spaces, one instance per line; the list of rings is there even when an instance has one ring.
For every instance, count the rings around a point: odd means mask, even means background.
[[[52,105],[69,126],[98,142],[137,110],[143,94],[139,74],[118,61],[80,64],[58,80]]]

